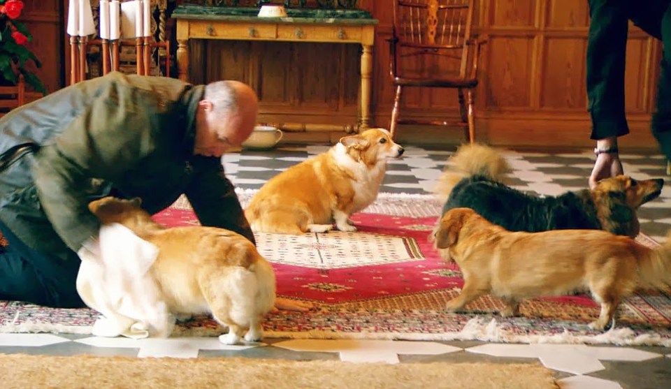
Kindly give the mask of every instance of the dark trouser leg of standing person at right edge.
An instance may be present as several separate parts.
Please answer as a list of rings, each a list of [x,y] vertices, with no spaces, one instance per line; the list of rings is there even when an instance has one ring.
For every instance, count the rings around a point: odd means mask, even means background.
[[[662,17],[661,31],[663,52],[651,129],[662,153],[671,159],[671,6]]]

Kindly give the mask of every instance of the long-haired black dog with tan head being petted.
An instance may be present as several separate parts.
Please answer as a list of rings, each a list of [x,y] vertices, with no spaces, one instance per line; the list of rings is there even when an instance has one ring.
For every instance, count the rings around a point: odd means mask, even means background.
[[[636,210],[657,198],[663,179],[635,180],[626,175],[602,179],[594,189],[538,197],[503,184],[510,170],[495,150],[464,145],[450,159],[436,192],[442,213],[468,207],[511,231],[593,229],[635,237],[640,226]]]

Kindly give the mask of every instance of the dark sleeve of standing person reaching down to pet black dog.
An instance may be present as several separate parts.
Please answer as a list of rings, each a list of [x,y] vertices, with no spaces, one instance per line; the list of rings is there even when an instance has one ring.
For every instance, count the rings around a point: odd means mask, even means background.
[[[628,14],[626,0],[589,0],[586,87],[592,139],[629,132],[624,110]]]

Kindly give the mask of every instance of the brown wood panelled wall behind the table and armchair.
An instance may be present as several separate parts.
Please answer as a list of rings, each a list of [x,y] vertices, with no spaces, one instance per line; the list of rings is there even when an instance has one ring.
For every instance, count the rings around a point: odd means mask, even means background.
[[[375,124],[388,126],[394,94],[389,81],[391,0],[359,0],[380,20],[375,37]],[[496,145],[592,145],[586,112],[586,0],[479,0],[475,32],[489,43],[477,89],[477,138]],[[359,47],[311,43],[210,41],[194,44],[192,75],[203,82],[236,78],[259,91],[269,122],[322,122],[325,129],[354,122]],[[630,29],[626,108],[632,134],[623,145],[656,147],[649,131],[660,45]],[[407,89],[403,112],[458,115],[456,92]],[[300,129],[300,126],[295,126]],[[414,129],[401,128],[401,137]],[[436,131],[442,131],[436,132]],[[421,132],[461,140],[461,131]]]

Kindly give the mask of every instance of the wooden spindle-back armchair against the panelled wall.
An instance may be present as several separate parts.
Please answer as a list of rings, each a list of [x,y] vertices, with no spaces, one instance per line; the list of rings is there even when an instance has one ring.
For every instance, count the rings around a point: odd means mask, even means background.
[[[457,125],[463,127],[469,142],[475,141],[477,61],[485,41],[470,36],[474,2],[394,0],[394,28],[389,39],[391,80],[396,87],[392,137],[398,124]],[[461,120],[401,119],[403,87],[457,89]]]

